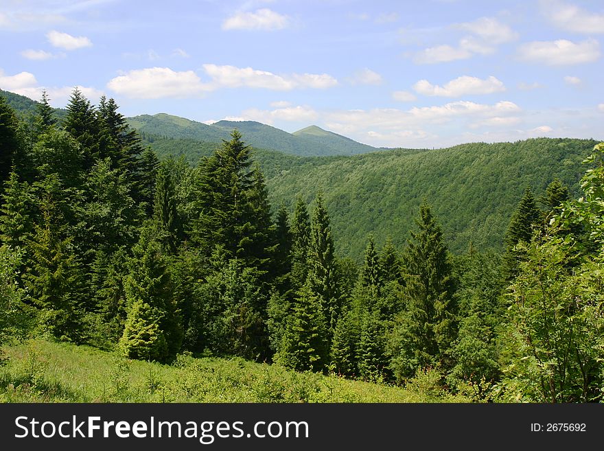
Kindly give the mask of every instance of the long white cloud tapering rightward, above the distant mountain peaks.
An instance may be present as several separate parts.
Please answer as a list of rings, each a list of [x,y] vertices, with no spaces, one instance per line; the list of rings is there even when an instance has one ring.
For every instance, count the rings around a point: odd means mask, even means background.
[[[338,80],[327,73],[292,73],[288,76],[279,76],[268,71],[259,71],[251,67],[203,65],[204,70],[212,79],[211,84],[218,87],[238,88],[264,88],[275,91],[289,91],[296,88],[325,89],[338,84]]]

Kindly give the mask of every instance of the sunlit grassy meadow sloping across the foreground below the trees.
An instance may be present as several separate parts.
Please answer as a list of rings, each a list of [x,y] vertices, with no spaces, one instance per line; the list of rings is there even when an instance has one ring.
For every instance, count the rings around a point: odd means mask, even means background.
[[[42,339],[5,347],[4,354],[0,402],[468,401],[417,383],[403,389],[241,358],[179,356],[172,365],[160,365]]]

